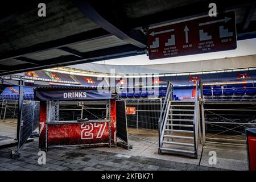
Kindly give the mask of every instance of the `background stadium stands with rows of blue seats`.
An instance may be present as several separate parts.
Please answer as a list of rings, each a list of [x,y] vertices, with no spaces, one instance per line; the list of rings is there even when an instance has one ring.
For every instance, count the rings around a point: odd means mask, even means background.
[[[256,70],[248,70],[244,71],[247,73],[247,75],[250,76],[250,78],[256,78]],[[56,75],[59,80],[52,80],[49,75],[51,73],[52,75]],[[238,79],[238,73],[243,73],[241,71],[219,71],[215,73],[203,73],[203,74],[198,74],[195,75],[193,74],[192,76],[199,76],[200,80],[203,81],[210,81],[210,80],[216,80],[216,81],[221,81],[221,80],[229,80],[233,79],[236,80]],[[138,89],[135,88],[134,84],[142,83],[143,86],[151,85],[152,82],[154,82],[154,79],[148,79],[148,78],[120,78],[115,79],[112,78],[112,81],[106,81],[108,78],[98,78],[98,77],[93,77],[93,76],[81,76],[81,75],[76,75],[73,74],[66,74],[66,73],[59,73],[59,72],[48,72],[48,75],[46,71],[41,70],[41,71],[34,71],[34,72],[26,72],[25,76],[26,79],[35,80],[44,80],[44,81],[55,81],[55,82],[60,82],[61,84],[64,85],[64,83],[68,84],[79,84],[83,86],[121,86],[121,92],[119,93],[119,97],[121,98],[147,98],[147,97],[164,97],[166,95],[166,91],[160,88],[159,90],[152,90],[152,89],[145,89],[143,88]],[[179,75],[179,74],[178,74]],[[9,76],[10,77],[10,76]],[[193,91],[193,82],[189,81],[190,75],[183,75],[183,76],[159,76],[157,81],[159,84],[165,84],[167,81],[171,81],[172,84],[174,85],[174,94],[176,95],[177,99],[179,98],[192,98],[192,91]],[[111,78],[110,78],[111,79]],[[110,80],[109,79],[109,80]],[[114,80],[114,81],[113,81]],[[125,81],[122,81],[125,80]],[[242,81],[242,79],[241,79]],[[151,82],[151,83],[150,83]],[[60,84],[60,85],[61,85]],[[57,86],[57,85],[53,85]],[[130,89],[127,89],[129,87]],[[126,88],[126,89],[124,89]],[[1,94],[2,98],[16,98],[15,93],[11,93],[11,90],[8,90],[6,88],[4,96]],[[32,90],[31,90],[32,92]],[[226,97],[229,98],[228,96],[254,96],[256,92],[255,89],[255,83],[251,84],[229,84],[229,85],[212,85],[204,86],[203,94],[204,96],[207,97]],[[27,96],[26,94],[26,99],[31,98],[34,93],[30,93]]]

